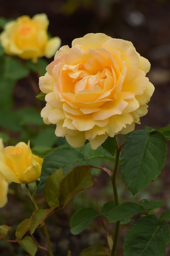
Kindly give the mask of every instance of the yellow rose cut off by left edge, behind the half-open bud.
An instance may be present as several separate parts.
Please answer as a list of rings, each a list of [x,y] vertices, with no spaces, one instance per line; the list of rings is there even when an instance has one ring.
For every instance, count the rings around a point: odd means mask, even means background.
[[[4,148],[2,138],[0,138],[0,151]],[[8,202],[7,193],[8,193],[9,182],[5,177],[0,173],[0,208],[4,207]]]

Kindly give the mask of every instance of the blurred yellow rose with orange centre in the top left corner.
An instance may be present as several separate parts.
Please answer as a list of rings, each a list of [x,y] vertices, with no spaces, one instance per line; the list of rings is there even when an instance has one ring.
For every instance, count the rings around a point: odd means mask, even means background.
[[[49,21],[45,13],[31,19],[21,16],[6,24],[0,34],[0,42],[9,55],[36,60],[41,56],[51,58],[61,45],[59,37],[48,39]]]

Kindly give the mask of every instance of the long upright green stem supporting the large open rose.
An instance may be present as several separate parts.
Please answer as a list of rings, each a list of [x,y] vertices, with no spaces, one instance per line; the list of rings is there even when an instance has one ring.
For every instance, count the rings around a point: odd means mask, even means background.
[[[116,149],[115,166],[114,166],[114,169],[113,169],[113,175],[111,176],[111,182],[112,182],[112,186],[113,186],[113,193],[114,193],[116,206],[118,206],[118,204],[119,204],[118,191],[117,191],[117,186],[116,186],[116,172],[117,172],[117,169],[118,169],[120,150],[121,150],[121,146]],[[117,221],[116,222],[116,228],[115,228],[115,234],[114,234],[114,237],[113,237],[113,247],[112,247],[112,250],[111,250],[111,256],[115,256],[116,245],[117,245],[117,241],[118,241],[119,226],[120,226],[120,221]]]

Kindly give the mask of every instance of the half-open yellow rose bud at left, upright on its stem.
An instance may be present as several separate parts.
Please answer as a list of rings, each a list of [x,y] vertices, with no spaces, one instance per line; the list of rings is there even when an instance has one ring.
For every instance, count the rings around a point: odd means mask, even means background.
[[[41,175],[43,159],[33,155],[30,143],[8,146],[0,152],[0,173],[10,182],[30,183]]]

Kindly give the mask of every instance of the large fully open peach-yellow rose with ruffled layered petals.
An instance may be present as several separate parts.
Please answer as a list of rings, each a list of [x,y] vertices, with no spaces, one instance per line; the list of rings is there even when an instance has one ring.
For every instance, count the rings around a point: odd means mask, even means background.
[[[39,78],[47,102],[41,117],[73,147],[87,139],[96,149],[108,136],[134,130],[154,92],[149,61],[131,42],[102,33],[61,47],[46,70]]]

